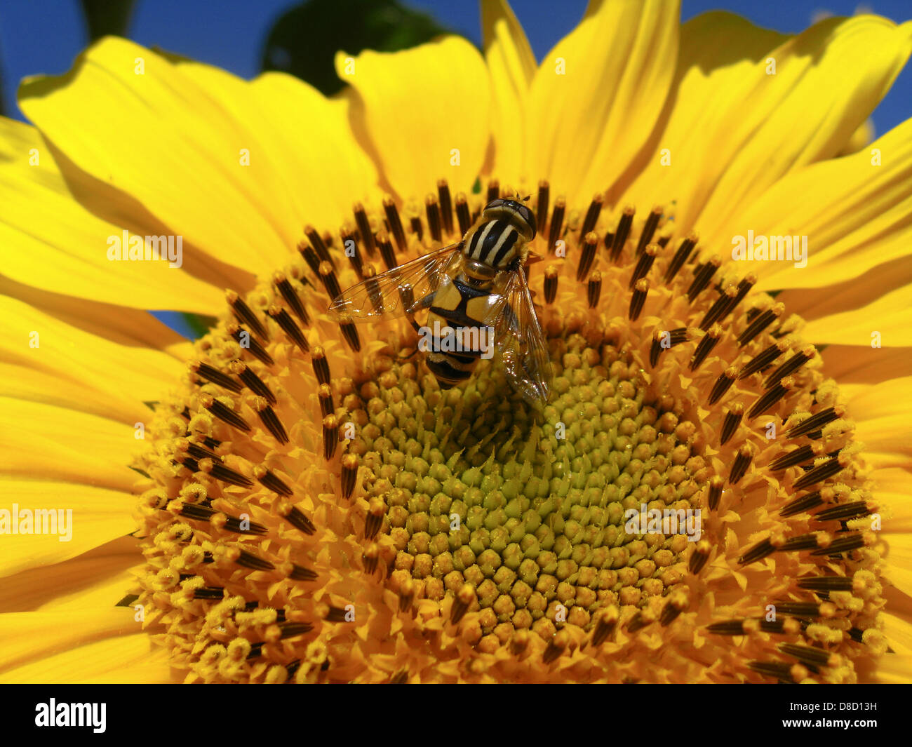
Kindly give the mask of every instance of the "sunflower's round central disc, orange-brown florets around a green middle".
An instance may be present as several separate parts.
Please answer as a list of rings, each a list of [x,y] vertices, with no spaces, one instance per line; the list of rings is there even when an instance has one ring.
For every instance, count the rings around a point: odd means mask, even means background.
[[[496,358],[441,390],[408,323],[326,315],[341,288],[458,241],[484,202],[440,182],[404,219],[358,204],[337,237],[307,226],[297,261],[227,292],[136,464],[139,601],[173,665],[190,681],[864,676],[884,600],[853,423],[802,320],[701,260],[662,208],[549,208],[540,185],[542,410]]]

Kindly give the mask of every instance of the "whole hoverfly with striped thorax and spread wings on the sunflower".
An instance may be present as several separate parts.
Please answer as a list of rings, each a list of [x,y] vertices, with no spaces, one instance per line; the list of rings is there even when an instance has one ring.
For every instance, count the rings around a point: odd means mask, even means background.
[[[496,351],[523,398],[546,402],[551,364],[523,271],[534,237],[529,208],[492,200],[459,243],[353,285],[329,311],[354,321],[408,316],[424,337],[419,348],[441,389],[469,379],[479,358]],[[413,318],[421,310],[428,312],[425,327]],[[486,347],[474,344],[485,338]],[[465,340],[472,344],[461,344]]]

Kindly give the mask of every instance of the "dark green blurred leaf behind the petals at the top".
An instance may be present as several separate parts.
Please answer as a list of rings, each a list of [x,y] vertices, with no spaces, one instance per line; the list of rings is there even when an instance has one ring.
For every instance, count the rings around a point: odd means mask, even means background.
[[[290,73],[332,96],[345,85],[336,75],[338,50],[395,52],[448,33],[430,16],[396,0],[309,0],[275,22],[262,68]]]

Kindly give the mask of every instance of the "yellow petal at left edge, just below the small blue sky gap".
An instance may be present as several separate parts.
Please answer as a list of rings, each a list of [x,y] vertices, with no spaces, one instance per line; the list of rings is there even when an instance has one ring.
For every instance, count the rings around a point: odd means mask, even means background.
[[[167,353],[110,342],[0,296],[0,395],[134,425],[186,370]]]

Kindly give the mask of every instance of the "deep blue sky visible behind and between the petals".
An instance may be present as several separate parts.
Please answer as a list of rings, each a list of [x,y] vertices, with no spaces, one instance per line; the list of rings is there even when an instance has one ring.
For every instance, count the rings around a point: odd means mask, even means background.
[[[759,26],[797,33],[826,11],[851,16],[857,0],[682,0],[685,20],[708,10],[723,9],[746,16]],[[129,36],[146,46],[157,45],[187,57],[224,67],[244,78],[258,72],[264,38],[270,26],[294,0],[138,0]],[[441,25],[481,44],[476,0],[406,0],[405,5],[435,16]],[[541,59],[570,31],[586,7],[586,0],[514,0],[534,54]],[[870,0],[866,12],[901,23],[912,18],[909,0]],[[15,105],[18,81],[36,73],[66,71],[86,45],[78,0],[0,0],[0,65],[7,114],[22,119]],[[912,65],[873,115],[882,134],[912,117]],[[179,331],[181,320],[160,316]]]

